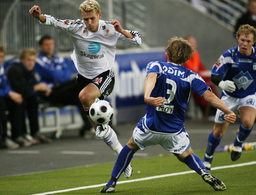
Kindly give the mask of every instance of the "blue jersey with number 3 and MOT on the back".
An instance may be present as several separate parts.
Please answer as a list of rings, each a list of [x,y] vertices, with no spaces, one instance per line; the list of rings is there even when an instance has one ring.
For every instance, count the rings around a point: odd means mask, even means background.
[[[140,119],[138,128],[161,133],[179,132],[184,127],[191,90],[202,96],[211,88],[197,73],[173,63],[150,62],[147,65],[149,73],[158,74],[150,97],[165,97],[166,101],[158,107],[148,104],[146,115]]]

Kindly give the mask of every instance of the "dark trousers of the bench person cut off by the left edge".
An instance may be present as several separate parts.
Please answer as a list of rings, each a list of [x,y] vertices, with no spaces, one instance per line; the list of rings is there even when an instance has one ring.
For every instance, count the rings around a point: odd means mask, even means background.
[[[0,142],[4,141],[7,132],[7,118],[5,115],[5,99],[0,96]]]

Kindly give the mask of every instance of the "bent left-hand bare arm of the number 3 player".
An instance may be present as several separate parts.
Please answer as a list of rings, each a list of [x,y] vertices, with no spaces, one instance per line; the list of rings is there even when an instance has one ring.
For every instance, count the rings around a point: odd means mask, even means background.
[[[149,73],[147,75],[147,78],[145,80],[145,85],[144,85],[144,101],[145,103],[155,107],[163,106],[164,105],[163,102],[166,101],[164,97],[156,97],[156,98],[150,97],[150,94],[156,84],[156,77],[157,77],[156,73]]]

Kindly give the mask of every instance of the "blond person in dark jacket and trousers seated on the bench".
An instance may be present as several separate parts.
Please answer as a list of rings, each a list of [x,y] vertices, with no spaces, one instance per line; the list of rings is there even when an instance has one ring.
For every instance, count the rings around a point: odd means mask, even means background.
[[[42,139],[42,135],[39,135],[36,92],[43,92],[46,96],[51,93],[51,89],[47,88],[46,83],[36,83],[34,72],[36,56],[35,49],[23,49],[20,53],[20,62],[14,62],[7,71],[11,88],[21,94],[23,98],[21,104],[17,104],[11,99],[7,101],[12,126],[12,139],[20,146],[25,147],[39,143]],[[27,133],[26,111],[28,113],[30,134]]]

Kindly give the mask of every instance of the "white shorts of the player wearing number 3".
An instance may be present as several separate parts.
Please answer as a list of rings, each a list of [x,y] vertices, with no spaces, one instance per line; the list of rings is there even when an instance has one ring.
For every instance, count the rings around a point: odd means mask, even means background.
[[[146,148],[156,146],[157,144],[174,154],[182,154],[190,148],[189,137],[185,128],[177,135],[166,136],[163,133],[151,131],[144,133],[136,126],[132,137],[142,151]]]

